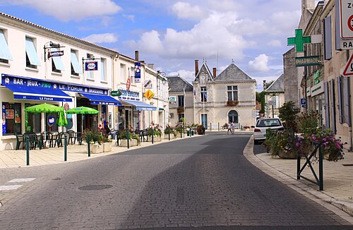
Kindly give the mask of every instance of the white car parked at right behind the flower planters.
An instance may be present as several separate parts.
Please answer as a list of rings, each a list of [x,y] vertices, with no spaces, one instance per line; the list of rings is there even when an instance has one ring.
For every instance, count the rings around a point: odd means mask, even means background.
[[[257,145],[260,140],[266,139],[266,130],[268,128],[273,131],[284,130],[280,119],[258,119],[256,126],[251,126],[251,128],[253,128],[253,142],[255,145]]]

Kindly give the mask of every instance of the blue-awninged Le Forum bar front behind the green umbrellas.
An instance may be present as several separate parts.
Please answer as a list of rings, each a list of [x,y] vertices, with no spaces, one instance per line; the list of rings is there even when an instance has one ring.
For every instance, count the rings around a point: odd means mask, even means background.
[[[109,90],[104,88],[1,74],[2,132],[0,150],[13,149],[13,145],[16,143],[16,133],[81,131],[81,127],[97,127],[100,119],[105,121],[109,105],[121,105],[108,93]],[[83,117],[78,117],[76,114],[67,115],[68,125],[63,129],[56,125],[56,113],[41,114],[24,111],[26,107],[44,103],[65,107],[65,110],[78,106],[92,107],[99,110],[100,114]],[[80,123],[81,121],[83,123]]]

